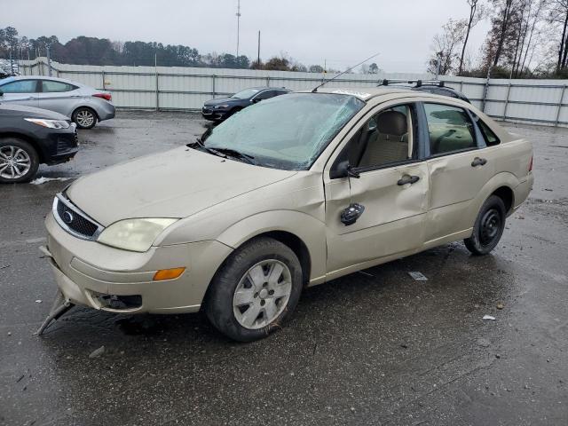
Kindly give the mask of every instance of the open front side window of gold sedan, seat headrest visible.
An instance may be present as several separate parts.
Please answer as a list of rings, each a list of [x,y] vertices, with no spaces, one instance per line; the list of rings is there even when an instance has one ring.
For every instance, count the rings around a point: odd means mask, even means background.
[[[412,158],[412,129],[410,106],[395,106],[375,114],[351,138],[350,165],[375,168]]]

